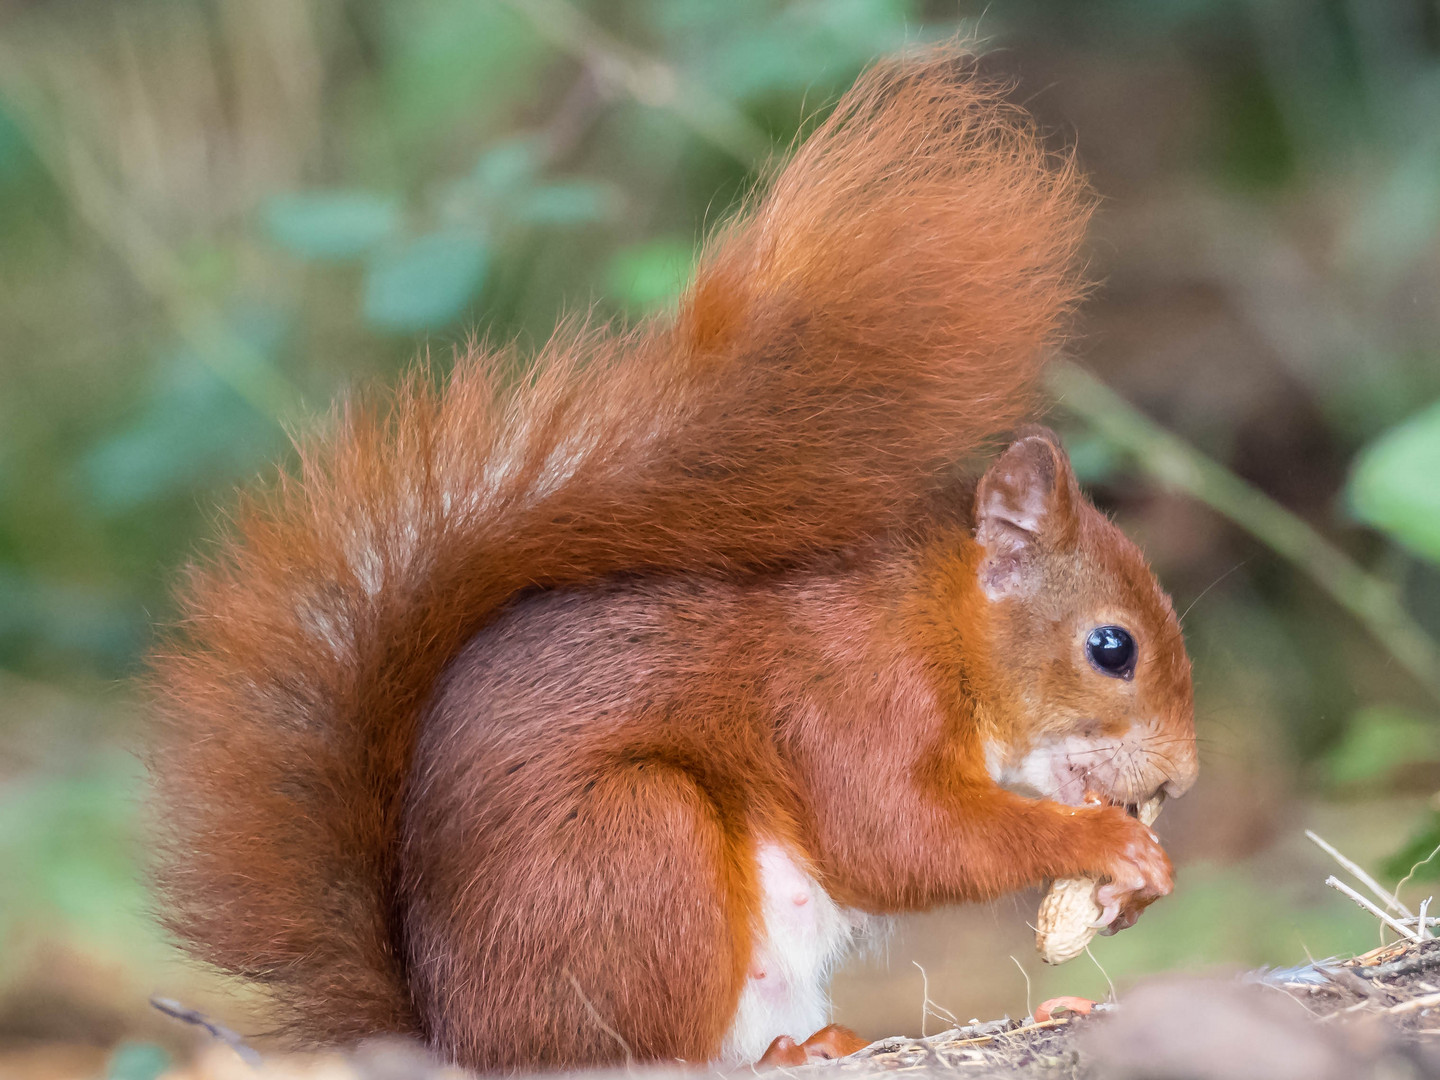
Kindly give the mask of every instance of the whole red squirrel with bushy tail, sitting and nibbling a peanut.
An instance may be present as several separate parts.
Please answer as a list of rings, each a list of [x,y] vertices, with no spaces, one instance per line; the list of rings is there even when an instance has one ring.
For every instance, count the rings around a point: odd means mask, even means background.
[[[1018,426],[1090,203],[960,46],[910,53],[678,310],[344,405],[153,661],[171,930],[302,1043],[514,1070],[844,1053],[789,1037],[876,916],[1092,876],[1133,922],[1189,661]]]

